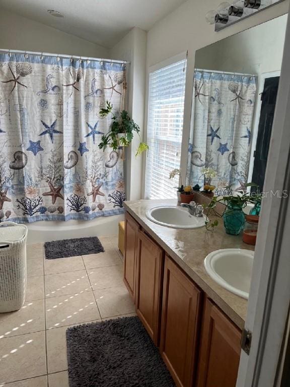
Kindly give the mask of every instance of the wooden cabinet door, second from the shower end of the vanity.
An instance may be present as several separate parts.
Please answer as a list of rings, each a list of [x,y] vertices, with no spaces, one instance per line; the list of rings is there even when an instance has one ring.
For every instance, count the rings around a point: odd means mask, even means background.
[[[139,230],[136,263],[136,313],[157,346],[160,331],[163,266],[163,250]]]

